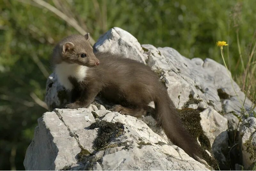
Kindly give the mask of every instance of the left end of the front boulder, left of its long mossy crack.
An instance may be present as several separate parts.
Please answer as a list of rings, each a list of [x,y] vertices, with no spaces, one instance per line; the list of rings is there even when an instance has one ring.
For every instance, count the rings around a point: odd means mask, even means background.
[[[78,142],[67,125],[55,112],[46,112],[38,119],[24,166],[26,170],[59,170],[76,163],[79,152]]]

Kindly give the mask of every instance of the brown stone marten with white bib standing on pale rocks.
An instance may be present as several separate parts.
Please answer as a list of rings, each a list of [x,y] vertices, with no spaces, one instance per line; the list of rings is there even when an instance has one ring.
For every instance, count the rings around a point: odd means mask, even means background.
[[[52,64],[58,81],[72,93],[65,108],[86,108],[99,94],[114,104],[113,111],[135,117],[146,115],[155,103],[155,115],[168,138],[189,156],[198,160],[200,150],[170,99],[165,86],[148,66],[121,55],[93,53],[85,36],[72,35],[53,49]]]

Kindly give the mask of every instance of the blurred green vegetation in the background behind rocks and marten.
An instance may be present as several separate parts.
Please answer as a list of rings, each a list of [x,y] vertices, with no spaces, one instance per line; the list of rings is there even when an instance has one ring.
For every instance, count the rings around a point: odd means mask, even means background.
[[[47,111],[40,106],[39,99],[44,100],[46,79],[52,72],[52,48],[62,38],[78,33],[34,1],[0,1],[0,169],[5,170],[24,169],[25,152],[37,118]],[[94,40],[117,26],[130,32],[141,44],[168,46],[189,58],[208,57],[220,63],[220,50],[215,43],[228,41],[224,53],[229,56],[229,69],[243,85],[244,69],[236,35],[246,65],[256,29],[254,0],[46,2],[75,19]],[[254,92],[249,93],[251,99]]]

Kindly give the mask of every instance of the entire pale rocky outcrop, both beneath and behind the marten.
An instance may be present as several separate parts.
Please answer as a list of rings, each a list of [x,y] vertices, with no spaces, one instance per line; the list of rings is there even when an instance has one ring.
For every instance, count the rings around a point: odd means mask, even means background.
[[[209,58],[204,61],[188,59],[169,47],[140,45],[130,33],[117,27],[105,33],[94,45],[94,50],[123,54],[151,67],[167,87],[184,125],[207,151],[208,164],[214,167],[214,159],[209,157],[212,155],[218,159],[221,168],[229,169],[226,167],[228,130],[238,128],[237,116],[242,116],[238,98],[243,101],[245,95],[234,82],[236,96],[223,65]],[[68,94],[54,73],[47,80],[45,101],[51,110],[68,102]],[[249,112],[251,106],[252,102],[246,98],[247,115],[253,115]],[[208,166],[169,142],[150,115],[141,118],[124,116],[107,110],[110,107],[98,99],[89,108],[54,109],[45,113],[38,119],[34,139],[24,160],[25,168],[207,169]]]

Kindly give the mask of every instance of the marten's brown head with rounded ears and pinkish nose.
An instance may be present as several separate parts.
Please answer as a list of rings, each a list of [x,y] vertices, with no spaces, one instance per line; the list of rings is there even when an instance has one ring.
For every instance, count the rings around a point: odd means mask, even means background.
[[[99,65],[100,61],[94,55],[89,39],[89,33],[63,39],[53,50],[53,60],[55,58],[55,63],[66,62],[87,67]]]

